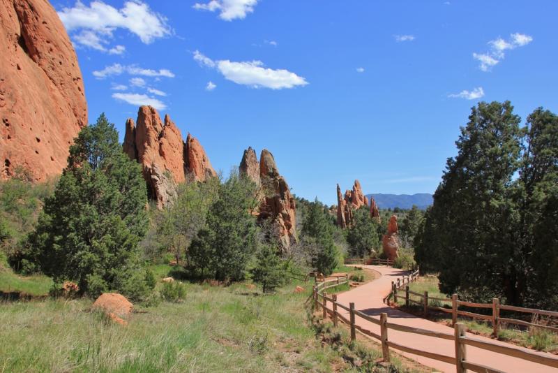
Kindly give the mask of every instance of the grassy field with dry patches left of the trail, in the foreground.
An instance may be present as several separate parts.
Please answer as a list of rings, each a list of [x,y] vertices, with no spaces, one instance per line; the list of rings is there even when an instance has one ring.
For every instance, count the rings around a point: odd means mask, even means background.
[[[183,302],[137,306],[126,327],[91,312],[87,298],[2,302],[0,371],[424,372],[405,361],[379,367],[377,346],[349,344],[345,330],[318,322],[305,305],[310,282],[274,295],[247,283],[185,286]]]

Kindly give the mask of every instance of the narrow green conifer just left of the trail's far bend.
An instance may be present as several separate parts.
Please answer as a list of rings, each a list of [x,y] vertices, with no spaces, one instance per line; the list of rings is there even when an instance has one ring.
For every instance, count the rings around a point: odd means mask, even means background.
[[[333,242],[333,228],[327,210],[316,199],[310,205],[308,215],[302,226],[303,242],[314,247],[310,262],[318,272],[330,275],[338,265],[339,251]]]

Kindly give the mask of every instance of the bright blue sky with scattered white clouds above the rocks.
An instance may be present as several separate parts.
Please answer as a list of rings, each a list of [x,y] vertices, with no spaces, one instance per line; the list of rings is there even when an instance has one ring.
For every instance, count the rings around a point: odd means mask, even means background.
[[[89,122],[140,103],[213,167],[269,149],[294,193],[435,191],[479,100],[558,112],[557,1],[54,0]]]

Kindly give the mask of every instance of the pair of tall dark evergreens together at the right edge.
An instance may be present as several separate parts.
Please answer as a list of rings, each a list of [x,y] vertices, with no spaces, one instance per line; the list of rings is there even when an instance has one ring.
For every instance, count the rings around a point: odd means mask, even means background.
[[[479,103],[415,237],[416,261],[446,293],[552,307],[558,290],[558,117],[520,128],[505,103]],[[518,175],[518,177],[517,177]],[[544,302],[545,304],[541,303]]]

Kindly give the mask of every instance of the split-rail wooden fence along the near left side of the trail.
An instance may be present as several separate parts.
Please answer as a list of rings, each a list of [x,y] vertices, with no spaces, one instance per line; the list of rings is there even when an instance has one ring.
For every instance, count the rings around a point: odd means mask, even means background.
[[[418,274],[417,274],[418,275]],[[349,326],[351,330],[351,340],[356,339],[356,331],[358,330],[363,335],[371,337],[372,339],[377,339],[382,344],[382,356],[384,361],[390,360],[389,349],[396,349],[398,351],[404,351],[408,353],[413,353],[414,355],[424,356],[425,358],[431,358],[434,360],[443,361],[444,363],[453,364],[456,367],[456,372],[465,373],[467,370],[472,370],[473,372],[490,372],[490,373],[503,373],[492,367],[487,367],[484,365],[479,365],[472,363],[472,361],[467,360],[467,346],[474,346],[478,349],[485,349],[495,353],[501,353],[506,356],[512,356],[514,358],[520,358],[523,360],[528,360],[533,363],[542,364],[548,367],[558,368],[558,358],[544,356],[540,353],[533,351],[525,351],[523,349],[517,348],[515,346],[502,346],[494,342],[485,342],[478,339],[472,339],[467,336],[465,332],[465,325],[462,323],[455,323],[453,333],[444,332],[434,332],[432,330],[412,328],[410,326],[403,326],[397,323],[391,323],[388,320],[386,313],[382,313],[379,319],[375,319],[372,316],[363,314],[357,311],[354,307],[354,303],[349,303],[349,307],[342,305],[337,302],[337,295],[332,295],[328,297],[326,289],[337,286],[338,279],[329,279],[316,284],[313,288],[312,298],[314,300],[315,307],[322,307],[324,319],[327,316],[331,316],[333,319],[333,325],[338,326],[339,321],[345,323]],[[347,279],[342,280],[344,283]],[[320,301],[321,300],[321,301]],[[328,303],[331,303],[331,309],[328,308]],[[349,312],[349,319],[347,319],[342,313],[338,312],[338,309],[345,309]],[[377,335],[375,332],[367,330],[361,326],[356,325],[356,318],[370,321],[375,325],[380,327],[380,334]],[[429,351],[423,351],[419,349],[414,349],[409,346],[404,346],[402,344],[397,344],[389,340],[389,330],[398,330],[400,332],[409,332],[419,335],[426,335],[433,338],[442,338],[453,340],[455,343],[455,356],[446,356],[439,353],[433,353]]]

